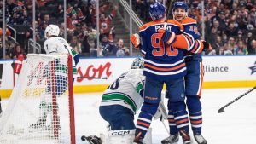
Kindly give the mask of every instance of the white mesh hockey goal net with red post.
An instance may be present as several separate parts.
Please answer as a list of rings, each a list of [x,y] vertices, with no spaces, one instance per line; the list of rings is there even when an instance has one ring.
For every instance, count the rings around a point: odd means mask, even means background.
[[[0,143],[75,144],[70,55],[27,55],[0,119]]]

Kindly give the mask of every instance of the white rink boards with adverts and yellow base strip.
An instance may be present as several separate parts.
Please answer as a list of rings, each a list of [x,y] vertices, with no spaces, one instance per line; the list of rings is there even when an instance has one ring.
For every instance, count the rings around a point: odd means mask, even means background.
[[[81,58],[74,93],[101,92],[127,71],[135,57]],[[17,76],[13,60],[0,61],[0,95],[8,97]],[[204,56],[204,89],[253,87],[256,85],[256,55]]]

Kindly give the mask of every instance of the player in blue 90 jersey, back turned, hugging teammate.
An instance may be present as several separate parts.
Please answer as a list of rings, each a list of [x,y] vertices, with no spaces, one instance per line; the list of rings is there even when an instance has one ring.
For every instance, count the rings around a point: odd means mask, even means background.
[[[143,138],[148,131],[152,117],[159,107],[164,83],[166,89],[172,91],[168,95],[173,104],[169,109],[178,112],[184,119],[187,119],[184,103],[183,76],[186,74],[186,66],[183,60],[183,50],[175,49],[170,45],[176,40],[174,32],[181,33],[180,26],[177,23],[166,24],[166,8],[161,3],[150,5],[149,12],[153,21],[141,26],[139,32],[141,37],[140,49],[145,58],[143,74],[146,76],[144,103],[137,119],[134,140],[140,144],[143,144]],[[164,27],[171,32],[159,33],[159,29]],[[160,39],[164,40],[165,43]],[[188,125],[180,128],[189,129]]]

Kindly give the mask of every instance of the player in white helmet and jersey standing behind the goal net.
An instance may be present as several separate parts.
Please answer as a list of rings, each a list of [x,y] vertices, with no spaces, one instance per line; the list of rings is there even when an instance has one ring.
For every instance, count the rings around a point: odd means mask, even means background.
[[[46,27],[44,32],[44,37],[46,41],[44,42],[44,50],[47,55],[73,55],[73,76],[76,75],[77,69],[76,65],[79,62],[79,55],[69,46],[67,41],[58,37],[60,33],[60,29],[56,25],[49,25]],[[55,65],[61,67],[61,61],[55,60]],[[50,64],[49,64],[50,65]],[[44,75],[45,77],[49,77],[50,68],[49,66],[44,67]],[[55,70],[55,78],[56,81],[56,91],[55,94],[60,96],[67,90],[67,78],[61,76],[61,73],[67,72],[67,68],[63,66],[63,68],[59,68]],[[58,74],[60,73],[60,74]],[[47,88],[45,89],[44,95],[41,97],[40,101],[40,111],[39,118],[36,124],[32,124],[31,128],[44,128],[46,124],[47,115],[52,112],[52,102],[51,102],[51,92],[49,89],[52,87],[51,83],[47,83]],[[58,121],[59,119],[57,119]]]

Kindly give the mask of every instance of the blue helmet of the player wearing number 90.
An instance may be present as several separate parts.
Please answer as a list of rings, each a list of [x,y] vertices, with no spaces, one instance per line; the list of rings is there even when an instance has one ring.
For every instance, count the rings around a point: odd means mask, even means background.
[[[149,14],[152,20],[160,20],[166,16],[166,7],[159,2],[150,4]]]

